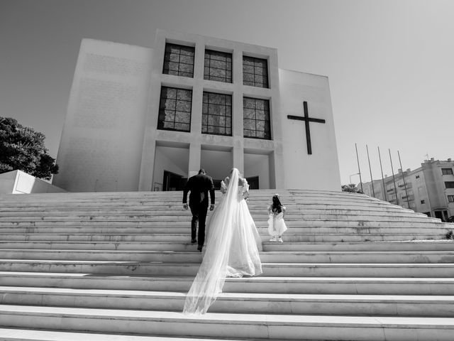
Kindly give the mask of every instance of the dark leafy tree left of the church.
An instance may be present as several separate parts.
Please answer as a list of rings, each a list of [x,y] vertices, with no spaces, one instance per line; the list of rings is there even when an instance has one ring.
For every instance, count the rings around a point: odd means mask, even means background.
[[[45,135],[18,124],[16,119],[0,117],[0,173],[16,169],[49,180],[58,173],[55,158],[44,146]]]

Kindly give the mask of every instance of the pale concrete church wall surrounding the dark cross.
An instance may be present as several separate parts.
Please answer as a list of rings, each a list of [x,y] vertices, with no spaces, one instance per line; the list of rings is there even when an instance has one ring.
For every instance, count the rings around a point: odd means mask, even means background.
[[[285,172],[285,188],[341,190],[336,136],[328,79],[323,76],[280,70],[280,99]],[[287,119],[303,117],[303,102],[308,102],[309,117],[326,123],[309,124],[312,154],[308,154],[304,121]]]

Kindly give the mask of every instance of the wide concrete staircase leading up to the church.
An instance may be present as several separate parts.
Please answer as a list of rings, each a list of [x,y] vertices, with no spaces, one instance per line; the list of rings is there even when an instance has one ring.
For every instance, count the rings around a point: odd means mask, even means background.
[[[0,340],[454,340],[454,224],[365,195],[251,191],[262,276],[182,315],[201,261],[182,193],[0,195]],[[218,194],[218,197],[220,193]]]

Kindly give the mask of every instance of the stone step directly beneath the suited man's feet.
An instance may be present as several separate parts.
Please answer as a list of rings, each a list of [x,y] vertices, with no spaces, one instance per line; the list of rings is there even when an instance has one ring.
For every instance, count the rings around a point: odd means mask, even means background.
[[[74,261],[160,261],[201,263],[195,251],[122,251],[72,249],[0,249],[0,259]],[[454,263],[454,251],[266,251],[264,263]]]

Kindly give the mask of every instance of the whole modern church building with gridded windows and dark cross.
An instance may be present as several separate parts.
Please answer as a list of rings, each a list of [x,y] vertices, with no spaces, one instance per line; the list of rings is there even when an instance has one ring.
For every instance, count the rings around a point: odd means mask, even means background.
[[[153,48],[84,39],[53,184],[181,190],[232,167],[250,188],[341,190],[328,77],[277,49],[157,30]]]

